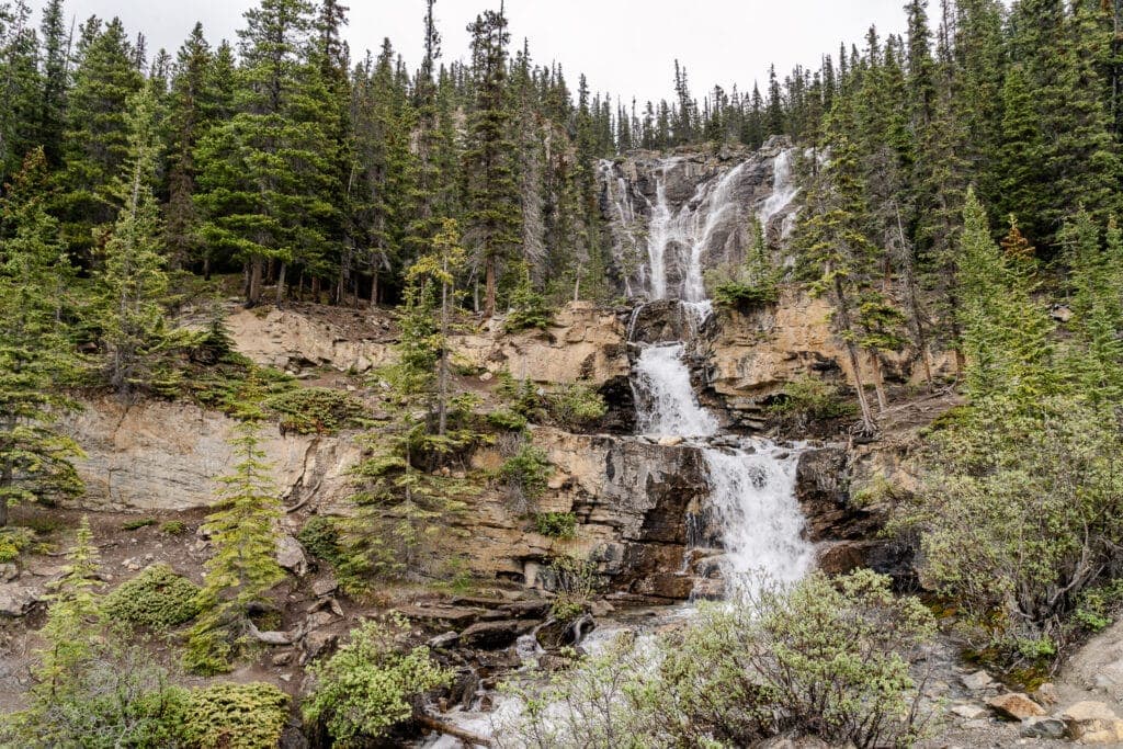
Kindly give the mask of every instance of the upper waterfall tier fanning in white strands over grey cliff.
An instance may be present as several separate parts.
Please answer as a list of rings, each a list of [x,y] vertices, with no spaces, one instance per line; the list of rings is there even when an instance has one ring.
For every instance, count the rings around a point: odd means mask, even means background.
[[[773,138],[755,153],[601,162],[602,209],[624,293],[702,302],[706,271],[745,259],[754,217],[782,239],[798,193],[794,155],[786,139]]]

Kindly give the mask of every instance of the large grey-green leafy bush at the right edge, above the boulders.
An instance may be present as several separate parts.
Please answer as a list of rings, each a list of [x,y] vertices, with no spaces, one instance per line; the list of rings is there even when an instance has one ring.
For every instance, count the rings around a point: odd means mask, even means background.
[[[921,573],[970,643],[1017,666],[1025,641],[1062,641],[1084,591],[1120,561],[1117,424],[1072,398],[995,399],[933,432],[920,459],[920,491],[891,530],[919,539]]]

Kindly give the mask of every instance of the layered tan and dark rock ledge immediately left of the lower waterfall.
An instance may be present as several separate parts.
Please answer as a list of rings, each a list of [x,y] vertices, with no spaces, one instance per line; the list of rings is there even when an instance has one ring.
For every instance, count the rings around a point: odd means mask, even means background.
[[[547,560],[568,554],[595,560],[613,590],[654,600],[687,597],[693,577],[677,573],[686,550],[686,518],[707,492],[697,448],[549,428],[535,429],[533,438],[555,467],[550,490],[536,509],[573,512],[576,537],[536,533],[501,493],[487,492],[465,514],[462,551],[472,567],[548,586]],[[476,456],[481,467],[500,460],[490,451]]]

